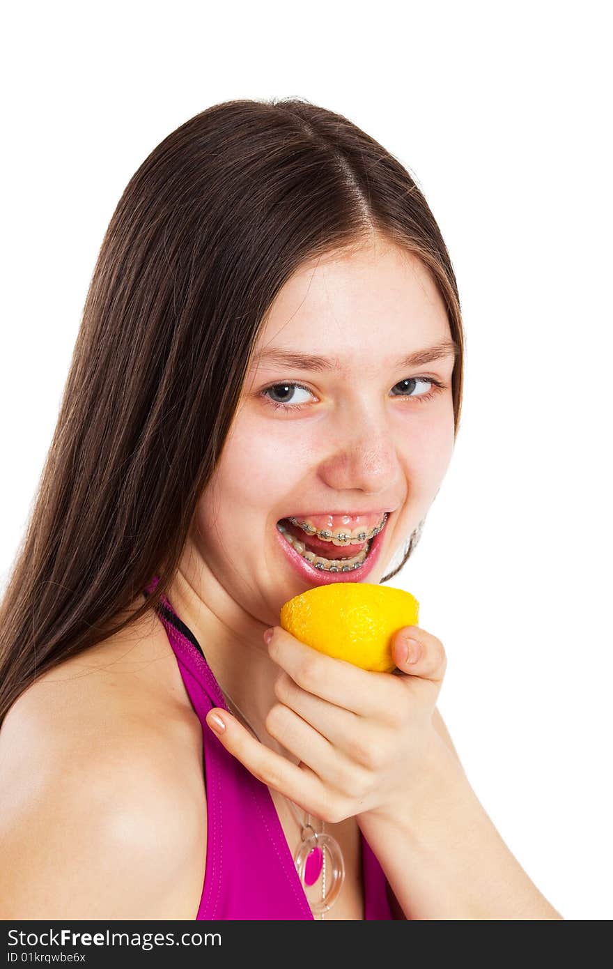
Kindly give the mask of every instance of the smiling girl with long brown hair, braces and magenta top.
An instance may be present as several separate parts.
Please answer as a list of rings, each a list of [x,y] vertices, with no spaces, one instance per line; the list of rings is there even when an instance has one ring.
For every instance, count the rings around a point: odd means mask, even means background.
[[[408,560],[463,352],[433,215],[347,118],[233,101],[143,162],[2,605],[3,919],[561,918],[457,759],[441,641],[392,675],[278,625]]]

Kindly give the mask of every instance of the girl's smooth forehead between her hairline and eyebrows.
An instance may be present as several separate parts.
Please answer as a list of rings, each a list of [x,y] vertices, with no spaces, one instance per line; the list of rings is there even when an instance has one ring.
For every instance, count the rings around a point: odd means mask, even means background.
[[[377,245],[301,266],[275,297],[263,321],[253,365],[283,347],[332,359],[340,369],[381,366],[450,339],[436,283],[411,253]]]

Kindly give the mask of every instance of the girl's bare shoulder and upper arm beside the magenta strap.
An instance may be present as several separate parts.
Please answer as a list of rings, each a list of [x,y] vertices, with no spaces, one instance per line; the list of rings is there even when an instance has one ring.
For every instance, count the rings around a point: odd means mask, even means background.
[[[0,730],[0,919],[195,919],[201,742],[155,630],[37,680]]]

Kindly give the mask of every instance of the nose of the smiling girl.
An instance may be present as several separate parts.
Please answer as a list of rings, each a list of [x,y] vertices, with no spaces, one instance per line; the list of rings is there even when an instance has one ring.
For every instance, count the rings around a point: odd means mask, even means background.
[[[335,446],[323,458],[320,477],[335,491],[359,490],[387,496],[402,477],[399,442],[389,413],[353,407],[347,420],[335,424]]]

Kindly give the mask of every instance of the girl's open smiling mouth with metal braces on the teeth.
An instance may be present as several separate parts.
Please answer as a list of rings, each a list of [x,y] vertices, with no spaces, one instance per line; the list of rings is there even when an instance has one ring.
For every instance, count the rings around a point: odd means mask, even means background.
[[[347,573],[361,569],[367,561],[378,536],[383,532],[389,513],[385,512],[382,521],[369,532],[358,532],[355,536],[341,534],[330,537],[323,533],[309,534],[295,518],[281,518],[277,530],[305,563],[320,572]]]

